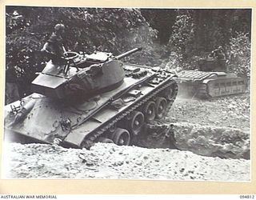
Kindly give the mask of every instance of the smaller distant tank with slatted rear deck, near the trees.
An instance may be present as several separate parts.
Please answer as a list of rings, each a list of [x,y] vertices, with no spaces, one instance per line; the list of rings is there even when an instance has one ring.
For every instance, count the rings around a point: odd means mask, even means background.
[[[179,96],[195,98],[217,98],[246,92],[247,78],[229,73],[225,59],[201,58],[199,70],[178,72]]]

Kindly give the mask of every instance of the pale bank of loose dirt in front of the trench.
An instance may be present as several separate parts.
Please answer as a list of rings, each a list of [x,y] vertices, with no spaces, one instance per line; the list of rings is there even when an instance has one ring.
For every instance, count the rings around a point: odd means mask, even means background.
[[[132,178],[250,180],[250,161],[203,157],[190,151],[95,145],[91,150],[47,145],[10,146],[8,178]]]

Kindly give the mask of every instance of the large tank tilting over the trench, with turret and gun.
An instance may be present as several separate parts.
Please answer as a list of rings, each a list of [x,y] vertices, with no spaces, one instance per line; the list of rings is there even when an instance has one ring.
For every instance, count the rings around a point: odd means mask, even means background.
[[[34,93],[5,106],[5,137],[87,149],[95,142],[133,144],[178,93],[175,74],[120,61],[138,50],[69,52],[48,62],[32,82]]]

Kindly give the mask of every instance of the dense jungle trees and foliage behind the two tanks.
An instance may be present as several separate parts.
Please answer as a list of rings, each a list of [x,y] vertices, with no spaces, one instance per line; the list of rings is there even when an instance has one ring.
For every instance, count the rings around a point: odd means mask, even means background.
[[[167,10],[6,6],[6,82],[30,93],[46,58],[40,50],[54,25],[66,26],[69,50],[115,55],[142,46],[127,62],[194,69],[198,58],[223,46],[232,70],[250,76],[251,10]]]

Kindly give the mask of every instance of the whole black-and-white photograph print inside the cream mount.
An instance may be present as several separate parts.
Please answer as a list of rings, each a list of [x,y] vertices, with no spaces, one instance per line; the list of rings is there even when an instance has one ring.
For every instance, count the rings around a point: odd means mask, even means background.
[[[5,6],[2,178],[250,182],[251,15]]]

